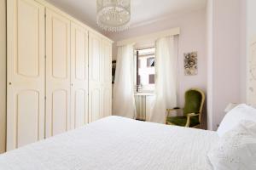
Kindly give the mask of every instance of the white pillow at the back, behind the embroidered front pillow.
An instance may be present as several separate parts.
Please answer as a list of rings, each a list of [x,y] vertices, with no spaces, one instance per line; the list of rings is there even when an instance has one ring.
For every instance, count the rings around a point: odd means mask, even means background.
[[[224,116],[217,130],[218,136],[221,137],[224,133],[236,127],[242,120],[256,122],[256,109],[245,104],[237,105]]]

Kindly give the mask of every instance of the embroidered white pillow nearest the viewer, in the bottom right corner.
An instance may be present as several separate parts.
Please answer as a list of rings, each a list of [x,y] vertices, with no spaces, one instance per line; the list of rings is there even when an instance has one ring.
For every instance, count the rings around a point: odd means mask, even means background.
[[[242,121],[208,152],[214,170],[256,169],[256,123]]]

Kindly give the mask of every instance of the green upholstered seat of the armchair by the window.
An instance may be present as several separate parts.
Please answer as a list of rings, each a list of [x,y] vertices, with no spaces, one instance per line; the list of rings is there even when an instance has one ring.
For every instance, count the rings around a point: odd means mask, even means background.
[[[167,123],[167,124],[177,125],[177,126],[180,126],[180,127],[184,127],[184,126],[186,126],[186,123],[187,123],[187,116],[172,116],[172,117],[167,117],[166,123]],[[190,118],[189,127],[195,127],[195,126],[198,125],[198,124],[199,124],[198,116],[192,116],[192,117]]]

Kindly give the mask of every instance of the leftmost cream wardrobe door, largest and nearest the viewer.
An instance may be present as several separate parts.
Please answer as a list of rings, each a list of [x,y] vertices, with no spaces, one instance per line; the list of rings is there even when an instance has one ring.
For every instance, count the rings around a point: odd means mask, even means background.
[[[7,150],[44,139],[44,7],[8,0]]]

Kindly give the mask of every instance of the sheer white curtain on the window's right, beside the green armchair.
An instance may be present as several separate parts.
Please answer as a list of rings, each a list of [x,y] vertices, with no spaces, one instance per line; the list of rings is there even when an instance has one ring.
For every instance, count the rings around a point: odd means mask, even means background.
[[[177,39],[164,37],[156,41],[155,102],[150,122],[165,123],[166,109],[177,106]]]

